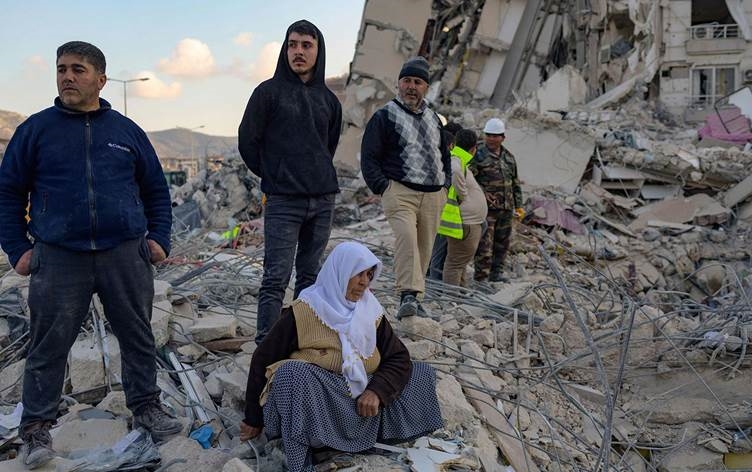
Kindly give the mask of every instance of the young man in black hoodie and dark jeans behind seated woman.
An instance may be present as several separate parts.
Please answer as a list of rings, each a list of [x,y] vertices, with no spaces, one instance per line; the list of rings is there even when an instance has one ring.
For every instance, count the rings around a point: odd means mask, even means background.
[[[253,91],[238,130],[240,155],[266,195],[256,343],[279,317],[293,260],[297,298],[316,280],[331,233],[342,107],[324,83],[325,60],[321,31],[306,20],[290,25],[274,77]]]

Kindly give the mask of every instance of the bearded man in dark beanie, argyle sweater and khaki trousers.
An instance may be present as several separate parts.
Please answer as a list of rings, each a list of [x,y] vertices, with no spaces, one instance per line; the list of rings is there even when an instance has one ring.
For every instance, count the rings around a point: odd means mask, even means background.
[[[398,319],[426,316],[420,302],[425,273],[451,184],[441,121],[424,100],[429,81],[424,58],[405,62],[397,97],[374,113],[361,144],[363,178],[373,193],[381,195],[395,236]]]

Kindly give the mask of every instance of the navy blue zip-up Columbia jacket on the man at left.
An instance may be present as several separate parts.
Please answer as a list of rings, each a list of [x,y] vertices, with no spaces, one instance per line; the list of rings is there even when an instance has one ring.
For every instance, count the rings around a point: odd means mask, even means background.
[[[172,210],[146,133],[110,109],[55,99],[16,129],[0,165],[0,245],[10,263],[37,241],[73,251],[113,248],[148,232],[169,253]],[[31,200],[31,222],[24,214]]]

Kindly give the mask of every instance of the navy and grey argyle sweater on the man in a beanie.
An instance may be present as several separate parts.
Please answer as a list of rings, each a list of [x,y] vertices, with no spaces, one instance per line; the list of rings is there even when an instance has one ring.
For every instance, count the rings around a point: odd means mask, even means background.
[[[413,112],[399,98],[368,121],[360,147],[360,168],[368,188],[384,193],[390,180],[419,192],[436,192],[452,184],[449,146],[441,121],[425,105]]]

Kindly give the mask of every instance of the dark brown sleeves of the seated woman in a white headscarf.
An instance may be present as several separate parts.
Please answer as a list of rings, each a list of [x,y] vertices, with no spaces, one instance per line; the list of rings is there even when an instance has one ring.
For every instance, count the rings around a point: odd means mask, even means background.
[[[410,380],[412,363],[410,353],[402,341],[392,331],[392,325],[381,318],[376,330],[376,349],[381,355],[379,368],[371,376],[366,389],[378,395],[383,406],[389,406],[396,400]],[[263,408],[259,397],[266,385],[266,367],[277,361],[288,359],[298,350],[298,328],[292,307],[285,307],[282,314],[266,335],[261,345],[256,348],[251,360],[248,385],[245,391],[245,424],[263,426]]]

